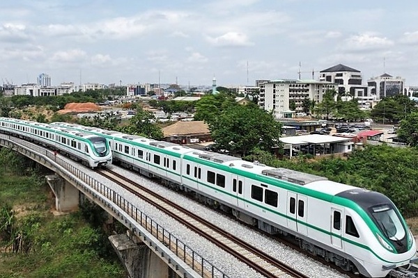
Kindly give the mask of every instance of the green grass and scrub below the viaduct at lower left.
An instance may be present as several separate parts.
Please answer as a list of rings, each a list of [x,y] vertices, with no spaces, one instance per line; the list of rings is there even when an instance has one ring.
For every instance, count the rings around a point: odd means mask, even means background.
[[[3,204],[13,207],[14,229],[24,234],[29,252],[5,252],[10,241],[0,233],[0,277],[126,277],[105,246],[107,236],[81,213],[52,215],[54,199],[45,178],[0,174],[0,208]]]

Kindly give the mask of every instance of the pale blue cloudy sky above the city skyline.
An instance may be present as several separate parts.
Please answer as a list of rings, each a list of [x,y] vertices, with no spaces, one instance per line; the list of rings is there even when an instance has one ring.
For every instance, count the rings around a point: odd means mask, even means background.
[[[1,0],[0,78],[20,85],[254,85],[342,63],[418,85],[418,1]]]

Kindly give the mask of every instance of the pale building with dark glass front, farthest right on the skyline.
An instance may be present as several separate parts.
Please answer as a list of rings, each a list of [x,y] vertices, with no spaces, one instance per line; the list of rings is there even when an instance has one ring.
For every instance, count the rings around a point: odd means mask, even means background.
[[[405,79],[385,73],[369,79],[367,85],[372,88],[372,92],[376,94],[378,99],[382,99],[394,95],[404,95]]]

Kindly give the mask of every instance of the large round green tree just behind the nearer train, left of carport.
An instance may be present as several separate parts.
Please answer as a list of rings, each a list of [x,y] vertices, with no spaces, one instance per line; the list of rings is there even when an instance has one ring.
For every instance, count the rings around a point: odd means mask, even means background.
[[[280,145],[281,124],[272,113],[251,103],[225,109],[209,123],[209,129],[217,147],[243,156],[255,147],[270,152]]]

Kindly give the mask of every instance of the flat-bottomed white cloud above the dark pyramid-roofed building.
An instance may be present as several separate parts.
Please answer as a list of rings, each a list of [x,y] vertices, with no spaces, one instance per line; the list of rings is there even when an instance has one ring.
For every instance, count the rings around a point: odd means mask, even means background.
[[[347,51],[374,51],[378,49],[386,49],[387,47],[392,47],[392,45],[394,45],[394,42],[388,38],[364,33],[360,35],[353,35],[344,40],[340,48]]]

